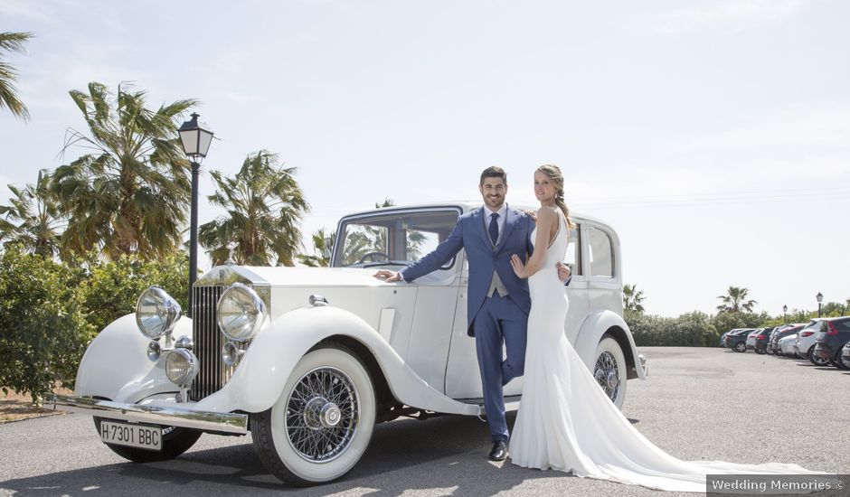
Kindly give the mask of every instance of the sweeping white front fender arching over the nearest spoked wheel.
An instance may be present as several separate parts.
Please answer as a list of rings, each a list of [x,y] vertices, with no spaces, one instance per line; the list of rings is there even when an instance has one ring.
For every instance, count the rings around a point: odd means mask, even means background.
[[[224,387],[198,401],[213,412],[257,413],[277,402],[290,372],[323,340],[344,335],[363,343],[378,362],[392,395],[402,404],[435,412],[477,415],[477,405],[449,399],[420,378],[380,334],[360,317],[332,306],[295,309],[268,324],[250,343]]]

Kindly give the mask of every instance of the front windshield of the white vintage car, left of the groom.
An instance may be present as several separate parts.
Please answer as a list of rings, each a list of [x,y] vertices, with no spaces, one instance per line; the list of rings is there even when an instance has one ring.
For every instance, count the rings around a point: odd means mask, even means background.
[[[458,222],[458,209],[375,212],[344,220],[335,267],[406,266],[437,248]],[[454,258],[443,268],[454,264]]]

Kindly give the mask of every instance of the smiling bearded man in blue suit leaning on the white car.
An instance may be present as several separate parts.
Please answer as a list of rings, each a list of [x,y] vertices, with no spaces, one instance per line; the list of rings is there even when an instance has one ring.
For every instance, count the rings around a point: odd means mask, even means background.
[[[503,461],[507,457],[509,435],[502,387],[523,375],[526,326],[531,309],[528,280],[516,277],[511,256],[517,254],[526,260],[531,255],[534,220],[505,203],[507,174],[501,168],[486,168],[481,173],[478,191],[484,206],[461,216],[449,238],[433,252],[400,272],[381,270],[375,277],[386,278],[388,282],[411,282],[442,267],[461,248],[466,250],[467,328],[476,339],[487,425],[493,440],[489,457]],[[559,266],[559,273],[566,278],[569,268]],[[503,342],[507,352],[504,360]]]

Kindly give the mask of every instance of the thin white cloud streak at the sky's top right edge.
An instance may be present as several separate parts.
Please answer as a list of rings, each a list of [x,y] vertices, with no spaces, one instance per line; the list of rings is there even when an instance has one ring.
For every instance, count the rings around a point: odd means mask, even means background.
[[[661,31],[679,33],[706,26],[733,26],[778,22],[797,14],[805,0],[725,0],[654,15]]]

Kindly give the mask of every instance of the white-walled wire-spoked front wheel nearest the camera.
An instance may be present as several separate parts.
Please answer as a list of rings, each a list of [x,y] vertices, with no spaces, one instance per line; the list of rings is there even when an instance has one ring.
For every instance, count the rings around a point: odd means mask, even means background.
[[[271,474],[296,486],[331,482],[354,467],[372,438],[372,378],[342,345],[307,352],[278,401],[250,420],[254,449]]]

